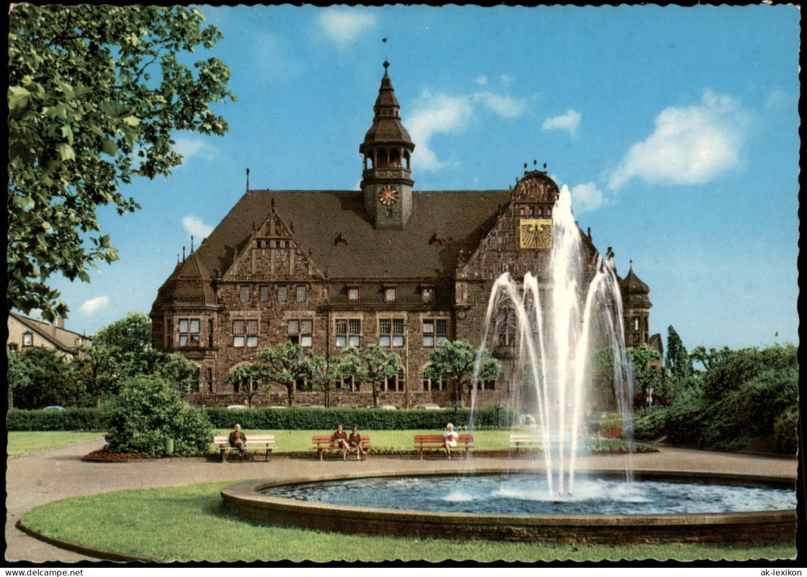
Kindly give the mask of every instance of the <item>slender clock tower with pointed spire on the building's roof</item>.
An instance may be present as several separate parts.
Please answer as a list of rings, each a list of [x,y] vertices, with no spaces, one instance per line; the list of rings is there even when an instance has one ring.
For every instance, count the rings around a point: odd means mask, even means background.
[[[373,125],[358,147],[364,157],[364,206],[375,228],[403,228],[412,212],[415,144],[400,119],[400,106],[384,61],[384,76],[373,107]]]

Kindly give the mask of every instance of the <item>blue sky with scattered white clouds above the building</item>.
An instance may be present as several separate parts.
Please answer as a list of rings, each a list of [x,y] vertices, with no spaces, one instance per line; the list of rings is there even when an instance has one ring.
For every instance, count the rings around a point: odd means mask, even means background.
[[[690,349],[798,341],[796,7],[202,11],[224,33],[230,130],[178,133],[183,165],[123,190],[143,209],[101,211],[120,260],[55,283],[66,328],[148,312],[248,167],[255,189],[358,188],[386,57],[416,190],[507,188],[546,162],[600,252],[650,285],[650,332],[672,324]]]

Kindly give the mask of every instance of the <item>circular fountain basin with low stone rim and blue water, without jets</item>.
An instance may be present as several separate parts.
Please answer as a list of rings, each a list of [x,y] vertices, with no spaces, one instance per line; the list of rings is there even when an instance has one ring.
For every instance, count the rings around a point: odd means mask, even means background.
[[[525,468],[504,480],[489,476],[500,473],[476,470],[458,478],[456,470],[430,470],[256,480],[225,487],[221,495],[228,508],[253,521],[345,533],[624,543],[786,541],[796,531],[792,479],[645,471],[631,488],[614,483],[613,471],[586,471],[575,477],[571,495],[550,497],[534,471]],[[642,483],[648,485],[637,490]],[[376,486],[392,491],[377,493]],[[595,499],[597,491],[605,491],[604,498]],[[657,501],[665,492],[675,496],[665,497],[661,512]],[[315,494],[337,502],[310,500]],[[617,499],[621,504],[615,505]],[[596,501],[605,508],[594,512]],[[646,512],[636,512],[641,501],[649,505]],[[714,510],[718,501],[722,510]],[[437,510],[440,502],[447,509]],[[483,504],[487,512],[480,512]],[[525,504],[529,510],[519,509]]]

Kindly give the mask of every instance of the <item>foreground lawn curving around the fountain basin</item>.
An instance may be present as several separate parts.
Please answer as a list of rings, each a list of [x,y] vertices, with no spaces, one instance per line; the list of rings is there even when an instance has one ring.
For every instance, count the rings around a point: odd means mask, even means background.
[[[792,542],[765,546],[572,546],[375,537],[270,527],[244,521],[224,508],[219,491],[232,483],[73,497],[33,509],[23,523],[50,537],[158,561],[743,560],[792,558],[796,554]]]

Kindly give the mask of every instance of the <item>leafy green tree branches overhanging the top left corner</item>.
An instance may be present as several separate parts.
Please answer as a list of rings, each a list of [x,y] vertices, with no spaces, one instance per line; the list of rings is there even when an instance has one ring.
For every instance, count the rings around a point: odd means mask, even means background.
[[[140,206],[119,186],[167,177],[182,155],[174,131],[222,135],[209,108],[235,100],[218,58],[192,71],[184,52],[213,48],[220,31],[179,6],[33,6],[9,11],[7,305],[64,317],[53,274],[90,281],[118,259],[97,207]]]

